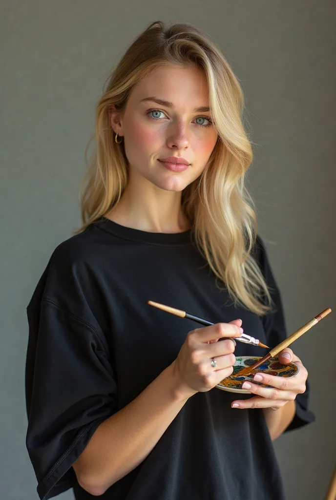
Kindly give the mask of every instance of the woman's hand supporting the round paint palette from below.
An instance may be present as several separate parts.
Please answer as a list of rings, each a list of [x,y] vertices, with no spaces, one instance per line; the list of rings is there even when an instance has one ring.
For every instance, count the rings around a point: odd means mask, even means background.
[[[256,373],[254,380],[265,385],[271,385],[271,387],[262,387],[255,383],[244,382],[241,387],[256,395],[250,399],[232,401],[232,408],[269,408],[270,410],[278,410],[288,401],[293,401],[297,394],[302,394],[305,391],[308,372],[301,360],[289,348],[283,349],[278,354],[278,359],[281,364],[288,364],[293,361],[299,367],[298,373],[288,378]]]

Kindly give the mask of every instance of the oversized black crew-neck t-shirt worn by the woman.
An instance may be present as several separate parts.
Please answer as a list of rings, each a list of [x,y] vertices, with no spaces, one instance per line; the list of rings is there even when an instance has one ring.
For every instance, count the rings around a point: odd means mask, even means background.
[[[26,444],[41,499],[77,483],[72,464],[97,426],[132,401],[177,356],[198,323],[147,304],[207,319],[242,319],[269,346],[286,336],[281,300],[260,238],[253,249],[276,311],[234,307],[190,231],[151,233],[105,217],[53,251],[27,306]],[[237,342],[235,355],[264,355]],[[280,500],[278,465],[261,409],[234,409],[237,394],[190,397],[148,456],[102,500]],[[250,397],[244,394],[239,397]],[[313,419],[307,391],[288,428]]]

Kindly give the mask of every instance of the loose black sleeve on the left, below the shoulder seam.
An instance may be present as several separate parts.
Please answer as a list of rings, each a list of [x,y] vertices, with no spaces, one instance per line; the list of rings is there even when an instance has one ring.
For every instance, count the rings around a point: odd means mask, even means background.
[[[46,500],[72,487],[73,462],[115,412],[116,382],[96,327],[45,298],[27,316],[26,446]]]

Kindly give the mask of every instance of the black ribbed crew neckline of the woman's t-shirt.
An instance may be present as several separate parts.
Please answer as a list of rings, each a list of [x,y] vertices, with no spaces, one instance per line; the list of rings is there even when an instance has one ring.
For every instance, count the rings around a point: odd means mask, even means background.
[[[141,243],[158,245],[185,245],[191,244],[191,229],[182,232],[149,232],[140,229],[134,229],[125,225],[118,224],[113,220],[101,215],[96,221],[98,226],[123,239],[139,241]]]

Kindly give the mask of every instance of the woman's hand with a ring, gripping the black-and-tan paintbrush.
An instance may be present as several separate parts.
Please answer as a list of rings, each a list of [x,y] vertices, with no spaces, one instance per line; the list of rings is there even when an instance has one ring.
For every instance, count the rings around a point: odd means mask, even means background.
[[[215,323],[188,332],[187,337],[173,361],[176,393],[187,398],[196,392],[212,389],[233,371],[235,344],[230,338],[242,333],[241,320]],[[217,366],[211,366],[215,358]]]

